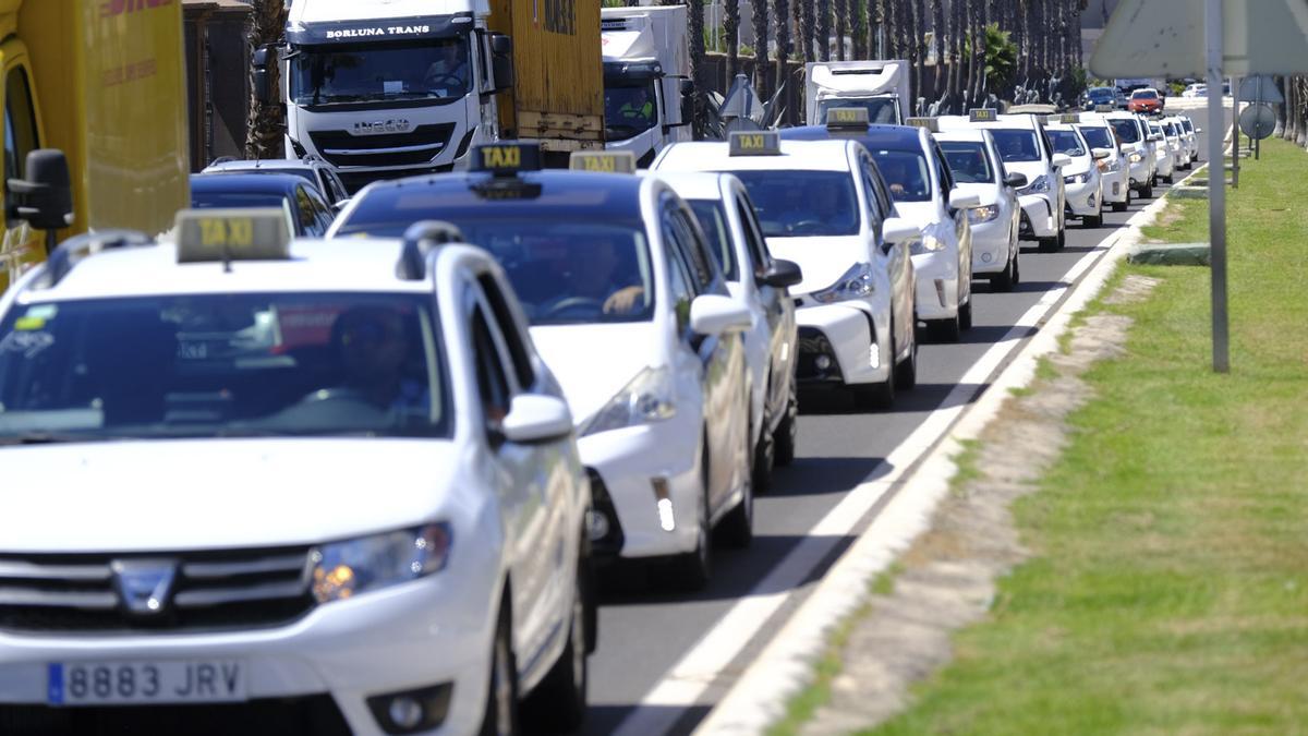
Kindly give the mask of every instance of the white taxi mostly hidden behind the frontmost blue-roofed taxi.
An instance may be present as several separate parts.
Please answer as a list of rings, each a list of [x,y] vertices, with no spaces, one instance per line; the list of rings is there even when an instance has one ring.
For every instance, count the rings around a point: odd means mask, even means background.
[[[574,158],[579,155],[573,155]],[[795,304],[790,287],[803,280],[793,261],[773,258],[740,179],[732,174],[657,172],[691,206],[717,257],[727,288],[752,316],[746,333],[752,375],[749,402],[755,490],[768,486],[773,464],[795,457],[799,396],[795,386]]]

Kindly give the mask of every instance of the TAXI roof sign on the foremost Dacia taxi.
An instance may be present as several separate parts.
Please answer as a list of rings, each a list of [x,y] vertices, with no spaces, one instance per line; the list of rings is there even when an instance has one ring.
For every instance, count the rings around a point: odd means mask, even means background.
[[[177,261],[281,261],[290,258],[290,212],[281,207],[182,210]]]

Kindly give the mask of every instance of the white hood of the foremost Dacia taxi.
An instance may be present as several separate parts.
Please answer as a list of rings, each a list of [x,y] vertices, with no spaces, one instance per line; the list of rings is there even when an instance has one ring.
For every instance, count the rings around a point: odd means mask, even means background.
[[[0,458],[8,553],[307,545],[402,529],[439,511],[459,465],[446,440],[362,437],[68,443]]]

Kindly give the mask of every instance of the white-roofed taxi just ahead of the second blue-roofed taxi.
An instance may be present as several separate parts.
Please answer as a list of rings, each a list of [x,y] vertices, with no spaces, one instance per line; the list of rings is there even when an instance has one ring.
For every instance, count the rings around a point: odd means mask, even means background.
[[[768,249],[803,268],[793,289],[800,385],[846,386],[858,405],[889,406],[917,382],[909,248],[918,228],[895,216],[862,144],[736,132],[664,148],[653,169],[735,174]]]

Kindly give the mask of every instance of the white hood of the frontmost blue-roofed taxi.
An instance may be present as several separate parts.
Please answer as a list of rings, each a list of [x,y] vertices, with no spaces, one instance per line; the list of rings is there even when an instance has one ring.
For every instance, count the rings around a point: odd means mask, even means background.
[[[658,360],[659,335],[654,322],[544,325],[531,327],[531,342],[581,427]]]

